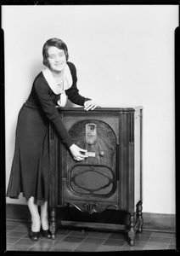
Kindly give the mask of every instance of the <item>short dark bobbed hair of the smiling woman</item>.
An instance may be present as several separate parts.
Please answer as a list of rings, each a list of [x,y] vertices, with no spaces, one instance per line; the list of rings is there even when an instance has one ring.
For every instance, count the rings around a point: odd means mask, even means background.
[[[42,48],[42,56],[43,56],[42,63],[44,66],[49,67],[49,64],[48,64],[48,47],[49,46],[55,46],[58,49],[63,49],[65,51],[66,61],[68,61],[69,53],[68,53],[68,48],[65,42],[63,42],[59,38],[50,38],[48,39],[48,41],[46,41],[46,43],[43,45],[43,48]]]

